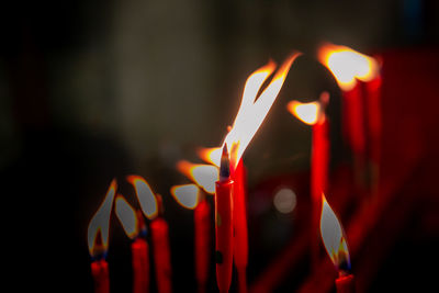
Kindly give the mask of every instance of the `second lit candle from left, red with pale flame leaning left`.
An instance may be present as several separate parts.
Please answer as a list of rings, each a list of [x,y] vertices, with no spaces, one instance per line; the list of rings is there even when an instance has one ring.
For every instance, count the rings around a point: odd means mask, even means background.
[[[142,212],[135,212],[126,200],[117,194],[115,212],[126,235],[133,240],[131,245],[133,259],[133,292],[149,292],[149,248],[146,241],[146,225]]]

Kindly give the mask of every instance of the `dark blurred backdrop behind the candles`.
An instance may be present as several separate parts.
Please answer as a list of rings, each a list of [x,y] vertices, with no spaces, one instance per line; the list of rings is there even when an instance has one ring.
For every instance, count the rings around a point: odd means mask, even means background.
[[[303,204],[306,214],[311,129],[285,104],[328,91],[331,167],[350,160],[340,134],[340,91],[316,59],[322,42],[383,56],[384,77],[392,80],[383,78],[389,119],[383,133],[396,137],[383,153],[393,158],[389,166],[409,173],[395,183],[398,192],[409,191],[419,202],[416,209],[424,209],[395,224],[404,225],[404,233],[392,238],[378,264],[369,264],[376,273],[364,281],[364,290],[434,283],[427,264],[438,260],[431,252],[439,232],[432,183],[439,146],[437,1],[21,1],[2,12],[0,172],[14,211],[5,218],[11,225],[4,237],[19,250],[11,253],[15,292],[30,283],[92,292],[87,225],[113,178],[133,201],[124,182],[130,173],[145,177],[164,195],[175,291],[194,291],[193,214],[169,194],[171,185],[189,183],[176,162],[200,161],[196,147],[221,144],[254,70],[301,50],[244,156],[254,221],[248,281],[259,280],[296,230],[306,227],[306,221],[296,221],[300,212],[283,214],[272,200],[282,182],[290,182],[297,209]],[[397,177],[394,169],[385,169],[389,180]],[[113,219],[112,292],[130,292],[130,240]],[[361,253],[373,258],[368,250]],[[306,261],[301,266],[272,290],[297,290],[307,275]],[[213,269],[211,274],[215,292]]]

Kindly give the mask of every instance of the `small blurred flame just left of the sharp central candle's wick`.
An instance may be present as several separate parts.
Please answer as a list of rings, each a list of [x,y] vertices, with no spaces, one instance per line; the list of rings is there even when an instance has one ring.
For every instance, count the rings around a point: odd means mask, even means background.
[[[215,193],[215,182],[219,180],[217,167],[181,160],[177,164],[177,169],[201,187],[205,192],[210,194]]]

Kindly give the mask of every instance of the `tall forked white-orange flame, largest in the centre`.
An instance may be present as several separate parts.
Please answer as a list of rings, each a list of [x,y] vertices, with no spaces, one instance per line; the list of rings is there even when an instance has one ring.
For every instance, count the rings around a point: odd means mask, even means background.
[[[224,144],[230,146],[230,166],[233,168],[236,168],[248,144],[266,119],[268,111],[285,81],[291,65],[299,55],[299,53],[292,54],[281,65],[270,84],[267,86],[259,97],[257,94],[262,83],[274,71],[275,64],[270,60],[266,66],[259,68],[248,77],[235,122],[221,147],[223,149]]]

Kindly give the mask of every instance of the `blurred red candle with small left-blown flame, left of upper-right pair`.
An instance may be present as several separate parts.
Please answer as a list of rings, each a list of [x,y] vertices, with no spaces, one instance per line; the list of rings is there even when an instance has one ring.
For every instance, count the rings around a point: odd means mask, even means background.
[[[311,154],[311,199],[312,199],[312,263],[313,269],[318,264],[318,219],[320,217],[320,195],[328,185],[329,137],[328,119],[325,108],[328,103],[327,92],[322,93],[318,102],[301,103],[291,101],[286,109],[302,122],[313,125],[312,154]]]

